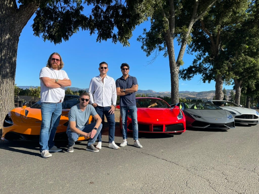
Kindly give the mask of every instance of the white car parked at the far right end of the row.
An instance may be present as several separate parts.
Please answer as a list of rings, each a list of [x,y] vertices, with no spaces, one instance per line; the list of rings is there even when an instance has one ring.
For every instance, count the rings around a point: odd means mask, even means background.
[[[219,106],[220,108],[229,111],[234,117],[235,124],[248,124],[248,125],[257,125],[259,122],[259,113],[250,108],[240,107],[234,102],[226,100],[208,100],[214,105]]]

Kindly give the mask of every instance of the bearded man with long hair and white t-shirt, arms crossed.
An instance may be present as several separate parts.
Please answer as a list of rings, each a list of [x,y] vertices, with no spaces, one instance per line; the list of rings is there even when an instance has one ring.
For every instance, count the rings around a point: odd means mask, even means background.
[[[40,152],[43,158],[52,156],[49,152],[60,152],[54,145],[54,137],[62,112],[65,87],[71,86],[67,73],[61,70],[64,63],[60,54],[52,53],[47,66],[40,70],[41,129]]]

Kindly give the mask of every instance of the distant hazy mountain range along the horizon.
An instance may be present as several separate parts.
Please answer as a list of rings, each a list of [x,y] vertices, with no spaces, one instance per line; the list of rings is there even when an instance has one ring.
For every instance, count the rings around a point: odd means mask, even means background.
[[[30,87],[38,87],[38,86],[17,86],[21,89],[29,89]],[[76,88],[76,87],[69,87],[73,92],[75,91],[80,91],[80,90],[84,90],[87,91],[89,90],[89,88]],[[227,96],[230,96],[230,91],[232,91],[231,89],[226,89],[227,92]],[[235,90],[233,90],[235,92]],[[155,92],[153,90],[141,90],[139,89],[138,92],[136,92],[137,94],[146,94],[148,96],[171,96],[171,92]],[[213,97],[215,96],[215,90],[211,90],[211,91],[204,91],[204,92],[190,92],[190,91],[179,91],[179,98],[186,98],[186,97],[190,97],[190,98],[197,98],[197,99],[203,99],[206,98],[208,100],[212,100]]]

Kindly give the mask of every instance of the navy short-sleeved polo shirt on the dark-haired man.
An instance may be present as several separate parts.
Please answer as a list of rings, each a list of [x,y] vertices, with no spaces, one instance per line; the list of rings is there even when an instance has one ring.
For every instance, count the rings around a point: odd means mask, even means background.
[[[116,88],[120,88],[120,89],[127,89],[127,88],[131,88],[132,85],[138,85],[137,78],[130,75],[127,77],[126,80],[123,78],[123,76],[121,76],[116,80],[115,83],[116,83]],[[131,94],[127,94],[125,96],[120,96],[120,106],[136,106],[135,92]]]

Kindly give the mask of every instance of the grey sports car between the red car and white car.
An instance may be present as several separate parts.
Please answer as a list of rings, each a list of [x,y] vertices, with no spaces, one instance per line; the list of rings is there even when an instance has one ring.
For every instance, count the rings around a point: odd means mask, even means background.
[[[229,111],[212,103],[179,102],[176,104],[185,115],[186,127],[204,129],[234,129],[235,123]]]

